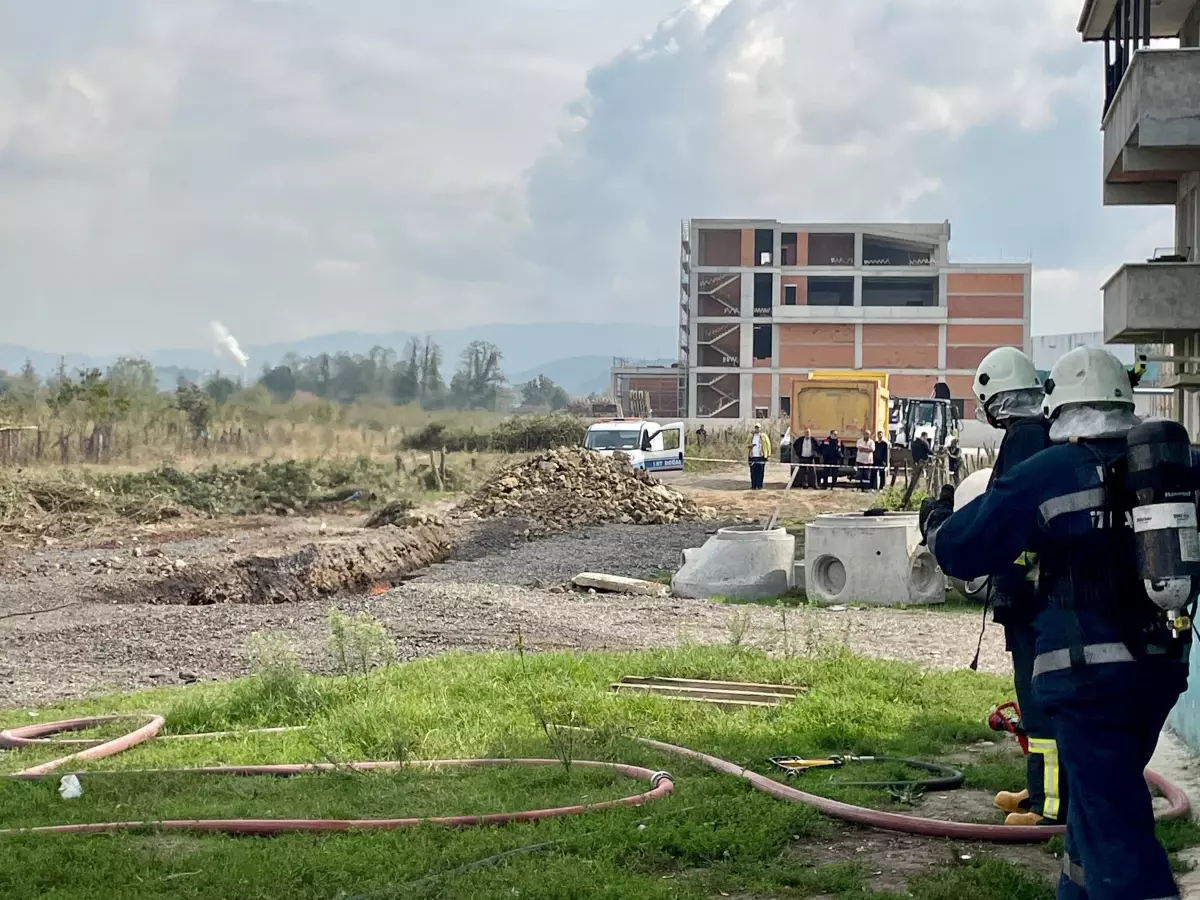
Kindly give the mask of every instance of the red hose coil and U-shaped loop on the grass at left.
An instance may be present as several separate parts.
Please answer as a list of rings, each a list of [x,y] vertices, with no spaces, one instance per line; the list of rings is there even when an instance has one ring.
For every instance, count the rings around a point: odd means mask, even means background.
[[[92,719],[71,719],[60,722],[44,722],[28,725],[20,728],[0,731],[0,746],[30,746],[60,743],[47,739],[48,734],[59,734],[65,731],[83,731],[97,725],[106,725],[121,719],[134,716],[98,716]],[[143,716],[144,718],[144,716]],[[154,738],[163,725],[161,715],[149,716],[150,721],[142,727],[122,734],[119,738],[106,742],[71,740],[62,743],[80,744],[90,743],[84,750],[64,756],[40,766],[34,766],[10,779],[38,780],[50,776],[50,773],[60,766],[73,760],[101,760],[113,756]],[[278,731],[268,728],[265,731]],[[212,732],[205,736],[216,737],[227,732]],[[254,732],[242,732],[254,733]],[[190,736],[191,737],[191,736]],[[355,772],[370,772],[378,769],[398,769],[403,767],[420,766],[426,768],[444,767],[484,767],[484,766],[560,766],[558,760],[430,760],[420,762],[354,762],[346,764],[287,764],[287,766],[208,766],[200,768],[185,769],[151,769],[151,772],[190,773],[200,775],[302,775],[314,772],[336,772],[338,769],[353,769]],[[643,803],[666,797],[674,790],[674,782],[665,772],[650,772],[640,766],[624,766],[612,762],[593,762],[580,760],[571,763],[592,769],[608,769],[630,779],[648,781],[650,790],[644,793],[623,797],[617,800],[604,800],[601,803],[589,803],[578,806],[559,806],[554,809],[526,810],[523,812],[492,812],[479,816],[433,816],[427,818],[185,818],[164,820],[156,822],[97,822],[89,824],[61,824],[41,826],[36,828],[6,828],[0,829],[0,835],[11,834],[95,834],[97,832],[120,832],[143,828],[155,828],[166,830],[185,832],[222,832],[224,834],[280,834],[282,832],[349,832],[359,829],[395,829],[412,828],[420,824],[439,824],[450,828],[463,828],[467,826],[491,826],[508,824],[510,822],[533,822],[540,818],[557,818],[559,816],[574,816],[581,812],[595,812],[618,806],[640,806]],[[145,772],[145,770],[143,770]],[[113,775],[120,772],[96,772],[89,775]]]

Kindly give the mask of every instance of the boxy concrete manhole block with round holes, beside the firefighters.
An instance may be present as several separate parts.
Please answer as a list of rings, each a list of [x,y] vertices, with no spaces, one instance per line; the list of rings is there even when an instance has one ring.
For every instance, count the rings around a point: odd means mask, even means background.
[[[916,512],[818,516],[804,529],[804,588],[809,599],[829,604],[946,601],[946,576],[920,546]]]

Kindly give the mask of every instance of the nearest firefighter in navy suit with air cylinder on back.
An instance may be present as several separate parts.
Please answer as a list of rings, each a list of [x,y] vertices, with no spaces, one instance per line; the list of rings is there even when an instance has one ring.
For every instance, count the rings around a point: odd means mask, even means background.
[[[1054,366],[1044,412],[1052,445],[958,512],[953,488],[943,490],[923,533],[943,571],[964,581],[1038,554],[1033,692],[1054,720],[1070,785],[1058,899],[1175,900],[1142,772],[1188,678],[1200,583],[1188,560],[1200,542],[1187,432],[1139,424],[1128,372],[1091,347]],[[1147,430],[1171,443],[1147,452]],[[1134,506],[1171,480],[1170,510]],[[1147,540],[1162,540],[1163,556],[1144,552]],[[1166,578],[1160,564],[1187,575]],[[1180,583],[1190,587],[1160,593]]]

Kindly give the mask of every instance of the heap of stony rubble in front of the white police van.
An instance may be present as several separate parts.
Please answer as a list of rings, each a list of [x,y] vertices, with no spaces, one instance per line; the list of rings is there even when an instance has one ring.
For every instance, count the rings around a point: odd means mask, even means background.
[[[460,510],[485,518],[524,520],[539,533],[610,522],[692,522],[709,512],[630,468],[628,457],[582,448],[550,450],[502,469]]]

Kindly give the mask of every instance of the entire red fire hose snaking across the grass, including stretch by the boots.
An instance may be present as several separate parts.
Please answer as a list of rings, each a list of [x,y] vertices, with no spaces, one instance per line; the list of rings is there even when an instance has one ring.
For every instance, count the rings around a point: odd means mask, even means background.
[[[89,719],[71,719],[59,722],[46,722],[40,725],[28,725],[19,728],[0,731],[0,746],[19,748],[32,745],[48,745],[62,743],[48,739],[49,734],[59,734],[68,731],[83,731],[98,725],[107,725],[122,719],[137,716],[98,716]],[[22,780],[38,780],[49,778],[55,769],[72,761],[100,760],[114,756],[124,750],[142,744],[155,738],[163,726],[163,718],[150,716],[150,721],[134,731],[128,732],[112,740],[98,742],[72,742],[89,743],[90,746],[64,756],[50,762],[34,766],[5,778]],[[271,731],[278,731],[271,730]],[[580,731],[587,731],[580,728]],[[208,734],[196,734],[187,737],[216,737],[226,732],[212,732]],[[252,731],[239,733],[254,733]],[[179,736],[185,737],[185,736]],[[979,824],[973,822],[947,822],[936,818],[923,818],[899,812],[887,812],[884,810],[856,806],[827,797],[798,791],[788,785],[780,784],[756,772],[743,768],[726,760],[720,760],[697,750],[690,750],[674,744],[666,744],[649,738],[634,738],[643,746],[660,752],[678,756],[680,758],[698,762],[708,768],[727,775],[744,779],[757,791],[770,794],[776,799],[788,803],[800,803],[812,806],[818,812],[844,822],[882,828],[889,832],[901,832],[905,834],[918,834],[928,838],[952,838],[956,840],[997,842],[997,844],[1040,844],[1050,840],[1055,835],[1066,833],[1062,826],[1004,826],[1004,824]],[[421,766],[427,768],[440,767],[490,767],[490,766],[558,766],[558,760],[433,760],[419,763],[402,762],[360,762],[344,764],[325,763],[299,763],[299,764],[268,764],[268,766],[209,766],[199,768],[182,769],[152,769],[149,772],[164,773],[191,773],[203,775],[301,775],[318,772],[336,772],[338,769],[354,769],[358,772],[400,769],[404,766]],[[638,806],[650,800],[656,800],[674,790],[674,781],[665,772],[652,772],[638,766],[626,766],[622,763],[577,761],[574,766],[583,768],[598,768],[617,772],[626,778],[648,781],[650,790],[624,797],[617,800],[605,800],[601,803],[562,806],[557,809],[528,810],[524,812],[493,812],[475,816],[446,816],[427,818],[367,818],[367,820],[277,820],[277,818],[233,818],[233,820],[166,820],[156,822],[103,822],[92,824],[65,824],[65,826],[41,826],[34,828],[10,828],[0,830],[0,835],[13,834],[92,834],[98,832],[134,830],[143,828],[160,828],[169,830],[188,832],[222,832],[226,834],[280,834],[282,832],[348,832],[361,829],[395,829],[409,828],[419,824],[442,824],[446,827],[508,824],[511,822],[532,822],[541,818],[553,818],[582,812],[617,809],[620,806]],[[128,770],[138,772],[138,770]],[[143,769],[140,773],[148,770]],[[122,774],[121,770],[92,772],[89,775]],[[1166,808],[1156,811],[1159,820],[1186,818],[1190,812],[1187,794],[1172,785],[1162,775],[1146,770],[1146,781],[1154,787],[1166,799]]]

